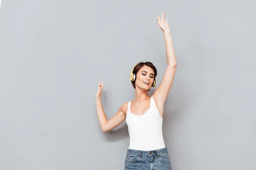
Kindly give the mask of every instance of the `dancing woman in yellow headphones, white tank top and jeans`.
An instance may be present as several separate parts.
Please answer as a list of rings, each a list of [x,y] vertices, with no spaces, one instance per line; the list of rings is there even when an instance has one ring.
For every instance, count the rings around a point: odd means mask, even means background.
[[[96,94],[98,119],[103,132],[112,130],[126,119],[130,146],[125,158],[125,170],[172,169],[163,140],[162,122],[164,102],[172,86],[177,64],[167,19],[164,20],[163,13],[161,20],[159,15],[157,18],[164,34],[168,66],[154,94],[148,95],[149,89],[156,85],[157,76],[157,70],[151,62],[139,62],[135,65],[130,77],[135,88],[135,98],[131,102],[123,103],[111,119],[107,119],[100,101],[103,82],[99,83]]]

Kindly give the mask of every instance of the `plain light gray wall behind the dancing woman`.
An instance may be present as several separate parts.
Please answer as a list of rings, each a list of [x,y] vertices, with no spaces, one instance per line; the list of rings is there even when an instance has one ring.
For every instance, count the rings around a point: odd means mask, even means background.
[[[134,98],[129,76],[137,62],[154,63],[158,87],[166,69],[163,11],[177,57],[163,121],[173,170],[255,170],[255,5],[3,0],[0,169],[124,169],[128,128],[101,131],[98,81],[108,118]]]

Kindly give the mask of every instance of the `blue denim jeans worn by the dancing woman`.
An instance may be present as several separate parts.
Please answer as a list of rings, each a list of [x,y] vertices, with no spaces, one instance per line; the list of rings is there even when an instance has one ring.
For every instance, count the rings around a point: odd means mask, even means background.
[[[167,147],[159,150],[127,150],[125,170],[172,170]]]

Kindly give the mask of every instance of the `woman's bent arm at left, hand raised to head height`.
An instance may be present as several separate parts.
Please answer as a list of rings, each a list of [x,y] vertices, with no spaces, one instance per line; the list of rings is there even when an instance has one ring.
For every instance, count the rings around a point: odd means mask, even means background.
[[[99,125],[102,129],[102,132],[107,132],[117,127],[125,120],[128,102],[125,102],[124,104],[122,104],[122,106],[119,108],[116,114],[112,116],[111,119],[108,120],[100,100],[102,88],[103,88],[103,82],[102,84],[99,83],[99,89],[96,94],[96,109],[98,113]]]

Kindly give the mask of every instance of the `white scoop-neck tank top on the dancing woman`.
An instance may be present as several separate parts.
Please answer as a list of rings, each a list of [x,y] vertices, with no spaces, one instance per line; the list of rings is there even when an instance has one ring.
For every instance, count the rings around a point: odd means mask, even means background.
[[[164,148],[163,118],[157,110],[153,95],[150,108],[142,116],[132,114],[130,106],[131,102],[128,102],[126,124],[130,135],[129,149],[150,151]]]

